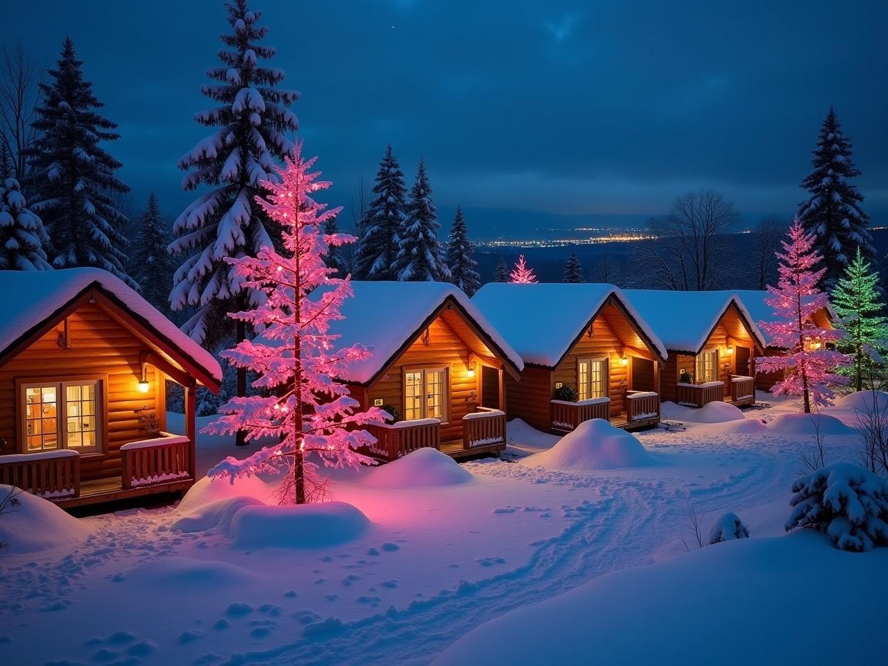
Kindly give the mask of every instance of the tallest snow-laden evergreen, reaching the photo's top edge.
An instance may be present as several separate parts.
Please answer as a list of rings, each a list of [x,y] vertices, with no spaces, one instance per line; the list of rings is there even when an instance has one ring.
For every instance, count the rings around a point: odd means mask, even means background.
[[[182,178],[186,190],[202,184],[211,189],[178,216],[173,225],[178,238],[170,245],[182,262],[173,276],[170,304],[173,310],[194,308],[182,329],[210,349],[232,333],[229,310],[263,297],[242,287],[226,258],[255,257],[280,242],[280,226],[269,222],[255,197],[262,192],[261,180],[277,182],[276,160],[294,155],[287,134],[298,124],[288,107],[299,93],[276,87],[283,70],[259,65],[276,53],[259,44],[268,32],[259,25],[262,12],[250,11],[247,0],[232,0],[226,10],[232,32],[219,36],[226,47],[218,51],[222,66],[207,70],[215,83],[201,88],[218,106],[194,115],[197,123],[216,129],[178,161],[178,168],[188,171]],[[243,321],[235,328],[238,341],[247,336]],[[245,390],[242,374],[238,395]]]

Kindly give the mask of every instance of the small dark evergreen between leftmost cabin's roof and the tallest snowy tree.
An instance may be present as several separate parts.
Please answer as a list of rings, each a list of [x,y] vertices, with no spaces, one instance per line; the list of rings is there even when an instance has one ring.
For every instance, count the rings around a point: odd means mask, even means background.
[[[176,268],[167,250],[170,235],[170,226],[163,218],[157,195],[151,192],[135,234],[130,273],[139,283],[142,296],[162,313],[170,309],[170,285]]]

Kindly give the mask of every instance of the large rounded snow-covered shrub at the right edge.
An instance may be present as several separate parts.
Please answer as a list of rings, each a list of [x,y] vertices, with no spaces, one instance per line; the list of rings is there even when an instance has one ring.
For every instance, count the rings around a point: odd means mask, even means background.
[[[888,481],[858,464],[836,463],[792,485],[786,530],[813,527],[842,551],[888,545]]]

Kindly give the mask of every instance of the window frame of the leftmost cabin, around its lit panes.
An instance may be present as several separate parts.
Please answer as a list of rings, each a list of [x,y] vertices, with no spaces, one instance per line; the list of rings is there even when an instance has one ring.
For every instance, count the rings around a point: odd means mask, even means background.
[[[16,433],[20,454],[31,455],[48,451],[70,450],[77,451],[81,456],[104,456],[107,445],[107,375],[63,375],[52,377],[16,377],[15,379],[15,409],[16,409]],[[67,387],[76,385],[95,386],[95,414],[96,420],[96,445],[83,449],[67,446]],[[54,387],[56,390],[56,448],[46,448],[41,451],[28,451],[28,408],[26,390],[29,388]]]

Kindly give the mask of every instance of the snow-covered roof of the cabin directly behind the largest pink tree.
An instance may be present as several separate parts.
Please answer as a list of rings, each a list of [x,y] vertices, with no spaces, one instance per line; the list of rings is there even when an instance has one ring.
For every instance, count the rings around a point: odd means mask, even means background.
[[[349,367],[346,381],[365,384],[384,369],[409,336],[419,332],[425,321],[448,297],[452,297],[489,342],[519,371],[521,357],[472,304],[464,292],[448,282],[352,281],[353,298],[342,305],[345,319],[333,321],[330,332],[339,336],[337,345],[357,343],[373,347],[373,355]],[[487,344],[487,341],[485,341]]]

